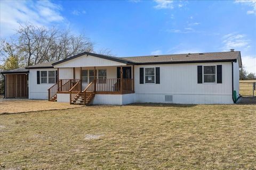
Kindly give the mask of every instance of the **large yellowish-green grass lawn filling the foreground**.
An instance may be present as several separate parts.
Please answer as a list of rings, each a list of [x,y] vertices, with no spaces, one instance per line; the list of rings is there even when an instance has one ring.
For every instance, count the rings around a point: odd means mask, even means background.
[[[256,168],[256,105],[90,106],[0,120],[5,169]]]

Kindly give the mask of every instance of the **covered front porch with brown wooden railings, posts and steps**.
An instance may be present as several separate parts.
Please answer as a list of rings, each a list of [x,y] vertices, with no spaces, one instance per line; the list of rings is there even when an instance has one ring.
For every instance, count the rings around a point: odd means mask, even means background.
[[[57,76],[49,101],[89,105],[95,95],[134,93],[134,65],[58,68]]]

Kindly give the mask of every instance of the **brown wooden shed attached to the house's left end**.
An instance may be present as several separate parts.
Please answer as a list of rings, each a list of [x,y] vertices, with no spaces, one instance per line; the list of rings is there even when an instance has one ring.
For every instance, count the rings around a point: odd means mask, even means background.
[[[28,70],[22,68],[1,73],[4,75],[4,98],[28,98]]]

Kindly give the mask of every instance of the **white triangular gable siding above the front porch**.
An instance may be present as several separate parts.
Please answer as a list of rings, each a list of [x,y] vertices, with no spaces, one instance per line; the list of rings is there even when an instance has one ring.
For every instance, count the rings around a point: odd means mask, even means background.
[[[74,58],[73,60],[60,63],[55,65],[54,67],[65,68],[65,67],[90,67],[90,66],[118,66],[118,65],[126,65],[124,63],[119,63],[111,60],[106,60],[99,57],[94,56],[81,56]]]

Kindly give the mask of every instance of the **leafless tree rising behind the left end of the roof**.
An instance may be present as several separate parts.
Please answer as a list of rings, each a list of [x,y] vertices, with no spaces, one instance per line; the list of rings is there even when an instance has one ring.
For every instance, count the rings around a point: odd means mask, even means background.
[[[82,52],[93,52],[93,43],[84,34],[77,36],[69,30],[62,31],[55,27],[48,29],[30,24],[20,25],[17,36],[17,42],[12,44],[16,49],[13,52],[26,62],[25,66],[62,60]],[[3,49],[8,46],[8,42],[3,43]],[[1,56],[10,56],[4,53]]]

